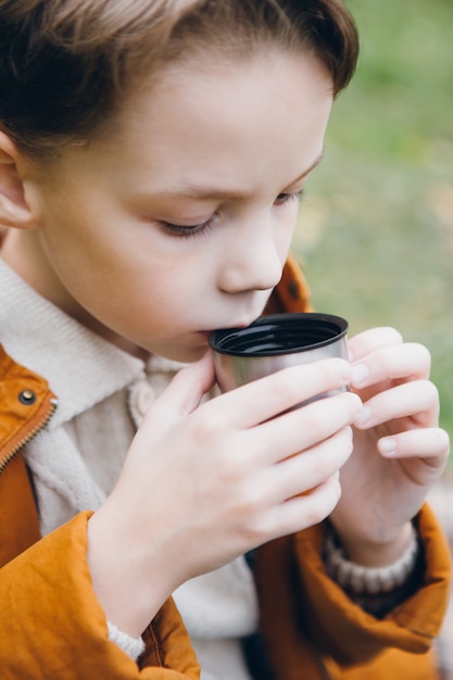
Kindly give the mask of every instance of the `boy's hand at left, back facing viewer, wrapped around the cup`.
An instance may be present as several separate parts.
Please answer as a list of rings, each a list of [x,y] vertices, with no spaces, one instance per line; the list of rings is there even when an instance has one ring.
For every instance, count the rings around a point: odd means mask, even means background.
[[[275,416],[350,379],[348,362],[326,360],[199,405],[211,357],[177,375],[89,521],[88,563],[112,622],[138,634],[181,582],[330,514],[360,399],[341,392]]]

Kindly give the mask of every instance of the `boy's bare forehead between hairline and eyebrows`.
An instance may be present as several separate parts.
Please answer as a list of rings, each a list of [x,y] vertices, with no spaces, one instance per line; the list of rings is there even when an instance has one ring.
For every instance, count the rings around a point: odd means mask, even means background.
[[[214,173],[235,190],[282,160],[290,181],[318,158],[331,101],[329,74],[307,54],[194,59],[135,87],[102,134],[71,155],[143,191],[150,181],[156,190],[211,186]]]

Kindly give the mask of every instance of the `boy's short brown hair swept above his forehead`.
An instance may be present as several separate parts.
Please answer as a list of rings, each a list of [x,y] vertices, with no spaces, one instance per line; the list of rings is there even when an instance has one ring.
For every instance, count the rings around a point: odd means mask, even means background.
[[[263,41],[320,59],[334,96],[353,75],[357,33],[341,0],[0,0],[0,127],[45,158],[89,139],[160,66]]]

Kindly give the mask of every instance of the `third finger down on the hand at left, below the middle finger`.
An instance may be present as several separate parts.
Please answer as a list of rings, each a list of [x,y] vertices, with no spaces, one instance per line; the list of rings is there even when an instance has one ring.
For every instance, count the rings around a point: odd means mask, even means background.
[[[269,468],[269,495],[275,502],[312,491],[335,475],[348,461],[353,448],[352,430],[344,427],[324,442]]]

